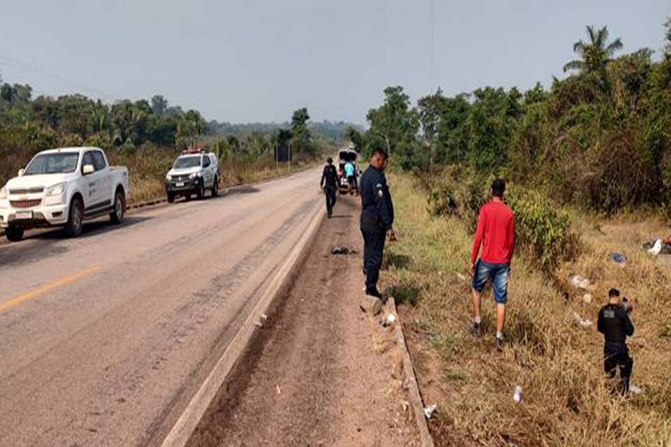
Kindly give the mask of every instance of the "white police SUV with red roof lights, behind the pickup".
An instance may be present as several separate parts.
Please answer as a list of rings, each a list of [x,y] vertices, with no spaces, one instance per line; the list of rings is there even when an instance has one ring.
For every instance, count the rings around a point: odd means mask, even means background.
[[[219,160],[212,152],[200,147],[189,147],[177,157],[173,168],[166,174],[166,196],[168,202],[182,196],[205,197],[205,190],[212,191],[212,197],[219,196]]]

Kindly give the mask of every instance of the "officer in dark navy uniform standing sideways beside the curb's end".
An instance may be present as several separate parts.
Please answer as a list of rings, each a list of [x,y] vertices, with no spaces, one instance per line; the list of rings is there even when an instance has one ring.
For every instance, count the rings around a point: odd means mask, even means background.
[[[363,273],[366,274],[366,295],[382,298],[377,290],[377,279],[382,267],[384,240],[396,240],[394,234],[394,204],[384,178],[389,157],[382,149],[375,149],[370,166],[361,175],[361,234],[363,235]]]

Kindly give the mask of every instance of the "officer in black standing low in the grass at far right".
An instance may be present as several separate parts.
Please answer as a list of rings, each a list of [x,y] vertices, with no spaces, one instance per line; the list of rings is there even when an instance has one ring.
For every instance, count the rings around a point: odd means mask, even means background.
[[[603,345],[603,369],[611,379],[615,377],[616,367],[620,370],[622,395],[629,392],[629,378],[634,360],[629,357],[626,338],[634,335],[634,325],[629,319],[629,302],[620,303],[620,291],[612,288],[608,291],[608,304],[599,311],[597,328],[605,339]]]

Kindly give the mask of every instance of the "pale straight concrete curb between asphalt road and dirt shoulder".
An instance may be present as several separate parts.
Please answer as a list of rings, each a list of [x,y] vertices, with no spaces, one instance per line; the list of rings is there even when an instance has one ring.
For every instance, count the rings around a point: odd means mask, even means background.
[[[217,395],[219,388],[222,387],[222,384],[226,380],[226,376],[229,375],[233,366],[236,365],[238,358],[245,352],[245,349],[252,340],[254,332],[257,330],[259,317],[268,312],[273,300],[275,300],[275,298],[281,294],[284,287],[287,286],[287,282],[291,278],[294,268],[301,261],[303,249],[310,244],[312,238],[317,233],[319,226],[321,226],[322,221],[324,221],[322,202],[321,200],[317,200],[315,208],[310,214],[308,228],[305,230],[294,248],[291,249],[289,256],[287,256],[287,260],[284,261],[280,269],[277,270],[275,277],[270,281],[270,285],[264,294],[261,295],[261,298],[254,306],[249,316],[247,316],[243,325],[240,326],[240,330],[238,330],[238,333],[233,337],[229,346],[226,347],[221,358],[217,360],[217,364],[194,397],[192,397],[191,402],[189,402],[187,408],[182,413],[182,416],[177,420],[177,423],[175,423],[171,431],[168,433],[168,436],[164,439],[161,446],[183,447],[187,444],[189,438],[196,429],[196,426],[199,424],[201,418],[203,418],[205,411],[207,411],[212,400],[214,400]]]

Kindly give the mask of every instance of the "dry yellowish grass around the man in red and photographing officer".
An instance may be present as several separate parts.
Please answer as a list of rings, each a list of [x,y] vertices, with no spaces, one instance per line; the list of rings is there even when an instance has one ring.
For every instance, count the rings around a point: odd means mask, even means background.
[[[402,295],[401,318],[424,400],[438,403],[430,428],[437,445],[669,446],[671,445],[671,269],[640,249],[652,235],[670,232],[657,221],[600,221],[574,215],[583,232],[582,255],[561,265],[551,285],[516,258],[509,288],[507,347],[493,343],[491,295],[483,301],[486,335],[468,333],[471,316],[468,260],[471,235],[457,219],[434,218],[410,177],[390,175],[400,242],[387,250],[387,286]],[[629,262],[611,263],[611,251]],[[595,284],[590,304],[570,289],[572,272]],[[632,382],[642,395],[607,393],[603,337],[596,316],[607,289],[633,300],[635,360]],[[565,288],[570,302],[561,298]],[[415,302],[415,305],[412,305]],[[579,328],[572,312],[593,321]],[[671,332],[671,330],[670,330]],[[515,385],[523,388],[514,404]]]

